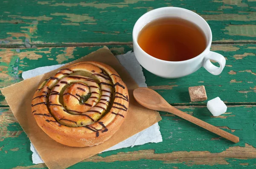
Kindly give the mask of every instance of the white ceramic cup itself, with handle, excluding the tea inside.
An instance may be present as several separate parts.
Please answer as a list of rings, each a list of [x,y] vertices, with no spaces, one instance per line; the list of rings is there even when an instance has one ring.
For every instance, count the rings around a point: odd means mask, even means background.
[[[147,54],[140,48],[137,38],[138,35],[147,23],[162,17],[180,17],[192,23],[195,23],[204,32],[207,47],[204,52],[196,57],[184,61],[166,61],[157,59]],[[141,16],[134,25],[132,32],[134,54],[145,69],[157,76],[164,78],[178,78],[188,74],[192,74],[202,66],[211,74],[218,75],[224,69],[226,60],[224,56],[216,52],[210,51],[212,43],[212,31],[208,23],[195,12],[177,7],[164,7],[149,11]],[[215,60],[219,63],[220,67],[214,66],[210,60]]]

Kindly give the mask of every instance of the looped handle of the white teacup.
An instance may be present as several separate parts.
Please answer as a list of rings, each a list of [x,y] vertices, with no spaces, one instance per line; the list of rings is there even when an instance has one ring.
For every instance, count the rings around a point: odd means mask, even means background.
[[[214,66],[210,60],[214,60],[219,63],[220,67]],[[210,51],[206,57],[204,57],[203,60],[203,66],[204,68],[214,75],[221,74],[222,70],[224,69],[226,64],[226,59],[221,54],[218,54],[216,52]]]

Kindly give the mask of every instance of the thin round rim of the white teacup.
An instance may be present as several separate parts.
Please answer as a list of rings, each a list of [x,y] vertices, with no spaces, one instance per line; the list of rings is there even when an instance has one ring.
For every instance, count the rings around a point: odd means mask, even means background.
[[[184,10],[184,11],[186,11],[186,12],[189,12],[189,13],[195,15],[196,17],[198,17],[198,18],[200,18],[201,20],[203,20],[204,23],[206,23],[207,29],[208,29],[208,32],[209,32],[209,42],[207,43],[207,46],[206,46],[206,48],[204,49],[203,52],[201,52],[200,54],[198,54],[196,57],[193,57],[193,58],[188,59],[188,60],[182,60],[182,61],[167,61],[167,60],[161,60],[161,59],[158,59],[158,58],[156,58],[156,57],[153,57],[153,56],[151,56],[150,54],[148,54],[147,52],[145,52],[143,49],[141,49],[141,47],[140,47],[140,45],[139,45],[139,43],[138,43],[138,41],[137,41],[137,38],[135,38],[135,33],[134,33],[134,29],[135,29],[135,27],[137,27],[138,21],[139,21],[142,17],[145,17],[146,15],[152,13],[153,11],[160,11],[160,10],[163,10],[163,9],[170,9],[170,10],[172,10],[172,9],[179,9],[179,10]],[[193,23],[194,23],[194,22],[193,22]],[[196,23],[195,23],[195,24],[196,24]],[[196,24],[196,25],[197,25],[197,24]],[[144,26],[145,26],[145,25],[144,25]],[[141,28],[141,29],[142,29],[142,28]],[[197,14],[197,13],[195,13],[195,12],[190,11],[190,10],[188,10],[188,9],[179,8],[179,7],[162,7],[162,8],[157,8],[157,9],[153,9],[153,10],[151,10],[151,11],[146,12],[145,14],[143,14],[143,15],[136,21],[136,23],[134,24],[134,28],[133,28],[133,31],[132,31],[132,32],[133,32],[133,33],[132,33],[133,42],[135,43],[135,45],[139,46],[139,49],[143,52],[143,54],[145,54],[146,56],[148,56],[148,57],[150,57],[150,58],[152,58],[152,59],[154,59],[154,60],[161,61],[161,62],[163,62],[163,63],[185,63],[185,62],[193,61],[193,60],[197,59],[198,57],[202,57],[204,53],[206,53],[207,51],[209,51],[209,49],[210,49],[210,47],[211,47],[211,44],[212,44],[212,30],[211,30],[209,24],[207,23],[207,21],[204,20],[203,17],[201,17],[199,14]],[[205,34],[205,35],[206,35],[206,34]]]

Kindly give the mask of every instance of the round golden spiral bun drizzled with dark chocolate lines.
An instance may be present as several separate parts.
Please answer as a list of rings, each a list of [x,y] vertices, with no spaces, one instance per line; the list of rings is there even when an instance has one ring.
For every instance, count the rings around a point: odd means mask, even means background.
[[[125,83],[100,62],[79,62],[59,70],[36,90],[32,114],[53,140],[73,147],[108,140],[128,110]]]

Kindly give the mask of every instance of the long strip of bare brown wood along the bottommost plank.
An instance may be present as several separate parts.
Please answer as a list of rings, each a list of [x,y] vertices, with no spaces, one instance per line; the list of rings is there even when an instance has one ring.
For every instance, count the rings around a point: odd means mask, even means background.
[[[220,153],[210,153],[208,151],[178,151],[170,153],[155,153],[154,150],[139,150],[134,152],[119,152],[116,155],[101,157],[94,155],[83,162],[114,162],[126,160],[160,160],[164,163],[185,163],[186,165],[228,165],[227,158],[253,159],[256,158],[256,148],[245,143],[244,147],[233,146]]]

